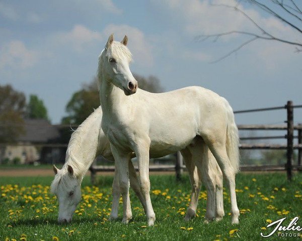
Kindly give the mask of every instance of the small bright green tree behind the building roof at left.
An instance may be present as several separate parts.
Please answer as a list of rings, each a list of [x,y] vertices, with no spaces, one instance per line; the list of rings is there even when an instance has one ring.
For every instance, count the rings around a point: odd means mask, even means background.
[[[31,119],[47,119],[47,109],[44,106],[43,100],[35,94],[31,94],[29,97],[29,103],[27,105],[27,117]]]

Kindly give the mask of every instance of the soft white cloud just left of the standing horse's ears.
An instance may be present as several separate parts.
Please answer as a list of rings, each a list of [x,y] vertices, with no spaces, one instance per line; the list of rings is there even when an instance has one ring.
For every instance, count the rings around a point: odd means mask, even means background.
[[[71,45],[75,51],[82,52],[87,44],[102,40],[102,35],[83,25],[75,25],[71,31],[54,34],[51,39],[56,44]]]

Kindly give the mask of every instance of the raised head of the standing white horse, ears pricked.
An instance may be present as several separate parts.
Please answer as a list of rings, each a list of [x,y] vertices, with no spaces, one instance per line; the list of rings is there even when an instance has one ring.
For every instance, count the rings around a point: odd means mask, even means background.
[[[121,42],[113,41],[113,34],[109,36],[99,58],[99,74],[102,72],[107,81],[122,89],[125,95],[130,95],[136,92],[137,81],[129,69],[131,53],[127,42],[127,36]]]

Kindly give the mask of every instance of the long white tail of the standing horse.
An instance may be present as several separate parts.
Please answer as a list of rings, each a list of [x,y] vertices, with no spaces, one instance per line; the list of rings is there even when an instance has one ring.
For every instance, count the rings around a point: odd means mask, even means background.
[[[234,112],[229,102],[226,101],[228,124],[226,128],[226,153],[230,159],[235,173],[239,172],[239,135],[238,128],[235,123]]]

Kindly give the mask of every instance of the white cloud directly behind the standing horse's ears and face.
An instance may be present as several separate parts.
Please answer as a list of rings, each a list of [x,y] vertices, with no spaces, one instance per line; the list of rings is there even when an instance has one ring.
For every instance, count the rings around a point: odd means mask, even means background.
[[[148,41],[143,32],[129,25],[108,25],[103,31],[105,39],[110,34],[115,34],[115,39],[120,41],[124,35],[128,36],[128,47],[132,52],[135,63],[146,67],[152,66],[154,58],[152,54],[152,44]],[[105,44],[105,43],[104,43]]]

